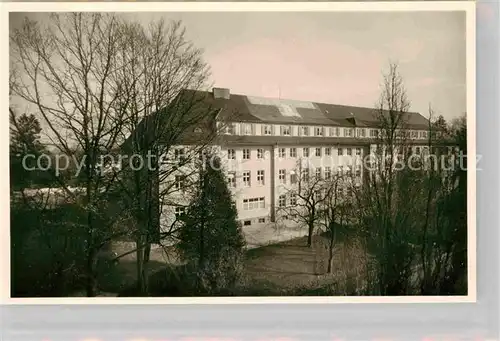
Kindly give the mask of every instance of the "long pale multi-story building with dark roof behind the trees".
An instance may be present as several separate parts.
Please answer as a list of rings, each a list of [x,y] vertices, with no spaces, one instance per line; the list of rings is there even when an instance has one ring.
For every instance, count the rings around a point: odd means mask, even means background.
[[[376,110],[235,95],[223,88],[201,95],[207,107],[217,110],[211,124],[218,127],[218,136],[212,144],[223,161],[244,228],[275,221],[277,209],[293,200],[286,188],[297,181],[300,163],[306,162],[313,175],[352,172],[363,180],[359,161],[373,152],[380,132]],[[421,153],[427,148],[429,122],[419,113],[405,115],[404,134],[413,151]],[[194,131],[204,133],[199,127]],[[172,152],[178,157],[185,148]],[[188,200],[178,194],[180,204],[164,207],[163,219],[182,214]]]

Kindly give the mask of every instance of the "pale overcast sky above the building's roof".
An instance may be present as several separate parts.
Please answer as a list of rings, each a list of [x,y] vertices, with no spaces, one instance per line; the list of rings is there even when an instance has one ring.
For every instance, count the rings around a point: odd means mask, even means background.
[[[373,106],[389,60],[411,110],[466,111],[464,12],[140,13],[182,20],[205,51],[212,82],[232,93]]]

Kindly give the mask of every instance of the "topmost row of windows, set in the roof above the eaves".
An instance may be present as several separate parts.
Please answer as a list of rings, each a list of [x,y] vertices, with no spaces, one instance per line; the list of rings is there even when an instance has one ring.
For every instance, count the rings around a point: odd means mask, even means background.
[[[239,131],[238,131],[239,128]],[[369,137],[375,138],[382,132],[371,128],[343,128],[322,126],[294,126],[255,123],[229,123],[223,126],[227,135],[264,135],[264,136],[316,136],[316,137]],[[406,130],[398,136],[412,139],[427,138],[425,130]]]

